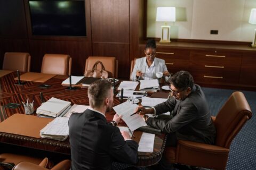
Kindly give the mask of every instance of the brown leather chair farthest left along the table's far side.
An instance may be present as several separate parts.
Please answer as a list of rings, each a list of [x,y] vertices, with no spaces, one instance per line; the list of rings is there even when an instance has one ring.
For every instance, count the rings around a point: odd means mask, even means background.
[[[5,53],[3,70],[30,71],[31,56],[28,53]]]

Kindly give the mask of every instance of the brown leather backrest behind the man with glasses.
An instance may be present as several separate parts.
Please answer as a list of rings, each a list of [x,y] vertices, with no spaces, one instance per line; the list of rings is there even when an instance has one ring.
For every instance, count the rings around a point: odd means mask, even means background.
[[[252,111],[244,94],[233,92],[215,118],[215,145],[229,148],[237,133],[251,117]]]

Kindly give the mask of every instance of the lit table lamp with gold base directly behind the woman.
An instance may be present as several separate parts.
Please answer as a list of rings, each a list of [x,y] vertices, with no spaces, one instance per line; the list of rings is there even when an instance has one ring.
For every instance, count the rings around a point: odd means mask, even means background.
[[[175,21],[175,7],[157,7],[156,21],[165,22],[162,25],[162,37],[159,43],[171,43],[170,41],[170,26],[166,22]]]

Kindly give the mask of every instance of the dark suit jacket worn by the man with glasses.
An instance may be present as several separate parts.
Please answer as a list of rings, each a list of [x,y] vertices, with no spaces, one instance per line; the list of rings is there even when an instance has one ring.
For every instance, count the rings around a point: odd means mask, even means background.
[[[148,118],[146,121],[148,125],[163,132],[175,132],[178,140],[214,143],[215,126],[204,92],[197,84],[194,84],[190,95],[184,100],[176,100],[172,97],[154,107],[157,115],[173,111],[173,118],[171,120]]]

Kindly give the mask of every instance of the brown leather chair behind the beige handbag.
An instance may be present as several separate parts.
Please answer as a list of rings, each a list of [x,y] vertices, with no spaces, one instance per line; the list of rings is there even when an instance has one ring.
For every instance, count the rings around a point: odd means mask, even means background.
[[[118,60],[116,60],[116,57],[90,56],[86,59],[84,72],[92,70],[94,63],[97,61],[101,61],[106,71],[110,73],[110,78],[118,78]],[[97,69],[100,69],[99,65],[97,66]]]

